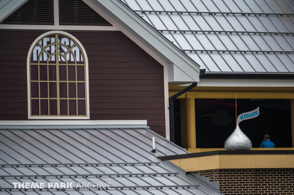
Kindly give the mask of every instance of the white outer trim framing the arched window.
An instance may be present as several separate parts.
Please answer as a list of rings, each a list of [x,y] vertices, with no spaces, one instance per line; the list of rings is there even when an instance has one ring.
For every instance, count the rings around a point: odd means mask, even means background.
[[[34,49],[34,45],[44,36],[49,35],[49,34],[53,34],[53,33],[59,33],[59,34],[64,34],[68,37],[70,37],[71,39],[73,39],[80,47],[81,50],[84,53],[84,60],[86,63],[86,91],[87,91],[87,116],[31,116],[31,100],[30,100],[30,96],[31,96],[31,89],[30,89],[30,57],[31,57],[31,52]],[[29,49],[29,53],[27,56],[27,60],[26,60],[26,72],[27,72],[27,87],[28,87],[28,118],[29,119],[90,119],[90,107],[89,107],[89,70],[88,70],[88,56],[86,54],[86,50],[83,47],[83,45],[81,44],[81,42],[75,38],[73,35],[66,33],[64,31],[59,31],[59,30],[53,30],[53,31],[49,31],[46,32],[42,35],[40,35],[38,38],[36,38],[36,40],[32,43],[30,49]]]

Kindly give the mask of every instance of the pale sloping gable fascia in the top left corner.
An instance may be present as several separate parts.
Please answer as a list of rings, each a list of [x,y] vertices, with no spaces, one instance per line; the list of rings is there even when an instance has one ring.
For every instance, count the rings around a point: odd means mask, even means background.
[[[28,0],[4,0],[0,4],[0,22],[5,20],[11,13],[26,3]]]

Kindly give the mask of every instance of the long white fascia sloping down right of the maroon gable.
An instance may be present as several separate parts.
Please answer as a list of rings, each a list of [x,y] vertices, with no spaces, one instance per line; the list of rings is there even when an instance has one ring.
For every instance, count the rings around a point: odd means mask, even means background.
[[[200,66],[120,0],[91,0],[166,63],[174,63],[194,82]]]

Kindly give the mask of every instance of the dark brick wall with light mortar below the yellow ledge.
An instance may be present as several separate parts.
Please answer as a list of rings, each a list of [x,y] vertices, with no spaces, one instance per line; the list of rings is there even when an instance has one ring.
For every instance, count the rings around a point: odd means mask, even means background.
[[[294,194],[294,169],[214,169],[194,174],[220,182],[225,195]]]

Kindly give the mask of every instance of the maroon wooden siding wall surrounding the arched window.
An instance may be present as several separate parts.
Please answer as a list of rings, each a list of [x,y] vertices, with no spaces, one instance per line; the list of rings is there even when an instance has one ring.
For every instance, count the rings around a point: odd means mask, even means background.
[[[26,59],[49,30],[0,30],[0,120],[28,120]],[[89,62],[90,120],[147,120],[165,137],[163,66],[120,31],[66,31]]]

